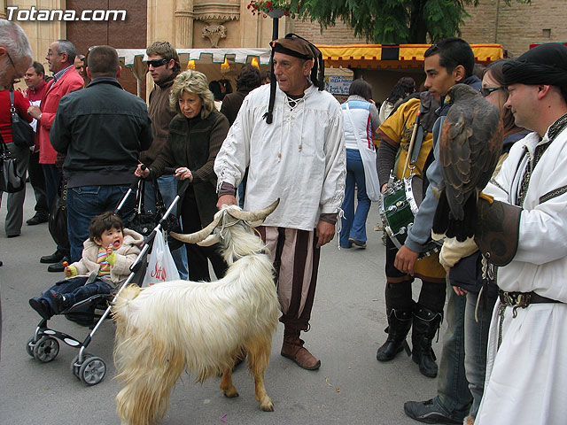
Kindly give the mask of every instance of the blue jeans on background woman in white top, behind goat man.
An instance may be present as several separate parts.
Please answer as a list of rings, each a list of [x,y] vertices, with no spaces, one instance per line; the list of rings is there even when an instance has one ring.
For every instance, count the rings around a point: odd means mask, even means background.
[[[356,185],[356,196],[358,205],[354,213],[354,186]],[[366,182],[364,180],[364,166],[362,166],[361,153],[354,149],[346,150],[346,184],[345,200],[341,205],[345,212],[342,218],[342,230],[340,234],[340,246],[348,248],[351,243],[349,237],[357,241],[366,242],[366,219],[369,215],[370,199],[366,195]]]

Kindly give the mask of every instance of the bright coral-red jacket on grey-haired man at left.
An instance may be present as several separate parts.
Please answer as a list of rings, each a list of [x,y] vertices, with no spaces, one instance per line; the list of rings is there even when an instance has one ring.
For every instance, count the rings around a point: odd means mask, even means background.
[[[51,80],[47,84],[47,89],[42,98],[40,109],[42,119],[39,121],[39,163],[55,164],[57,152],[50,143],[50,129],[55,120],[55,114],[61,97],[67,93],[82,88],[82,76],[72,66],[64,73],[57,82]]]

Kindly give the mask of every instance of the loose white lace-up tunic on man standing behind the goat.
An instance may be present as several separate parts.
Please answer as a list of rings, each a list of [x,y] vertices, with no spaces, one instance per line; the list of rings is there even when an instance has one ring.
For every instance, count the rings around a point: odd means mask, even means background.
[[[313,231],[321,213],[338,213],[345,195],[345,137],[338,101],[311,85],[291,107],[276,89],[267,124],[269,84],[254,89],[240,108],[214,161],[219,187],[238,186],[249,166],[245,210],[281,198],[266,226]]]

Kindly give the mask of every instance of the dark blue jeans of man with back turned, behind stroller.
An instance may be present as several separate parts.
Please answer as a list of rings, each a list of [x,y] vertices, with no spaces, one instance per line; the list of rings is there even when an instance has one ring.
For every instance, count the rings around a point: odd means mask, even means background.
[[[67,189],[67,232],[71,245],[71,263],[79,261],[82,257],[82,244],[89,237],[89,224],[98,214],[113,211],[129,185],[116,186],[79,186]],[[128,197],[120,210],[120,215],[128,222],[136,205],[135,197]]]

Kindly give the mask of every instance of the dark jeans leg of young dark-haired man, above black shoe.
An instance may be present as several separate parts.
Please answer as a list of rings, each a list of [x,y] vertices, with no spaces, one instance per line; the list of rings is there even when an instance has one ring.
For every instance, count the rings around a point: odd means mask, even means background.
[[[464,371],[464,321],[467,298],[454,293],[447,284],[447,331],[439,362],[437,397],[433,400],[447,414],[466,416],[472,396]],[[474,312],[473,312],[474,314]],[[462,413],[462,414],[459,414]]]

